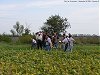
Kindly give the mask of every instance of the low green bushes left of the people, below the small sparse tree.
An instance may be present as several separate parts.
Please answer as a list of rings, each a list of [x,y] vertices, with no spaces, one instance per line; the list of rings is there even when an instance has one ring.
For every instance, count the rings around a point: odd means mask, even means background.
[[[4,43],[11,43],[11,44],[30,44],[32,38],[35,37],[34,35],[22,35],[22,36],[12,36],[12,35],[7,35],[3,34],[0,35],[0,42]]]

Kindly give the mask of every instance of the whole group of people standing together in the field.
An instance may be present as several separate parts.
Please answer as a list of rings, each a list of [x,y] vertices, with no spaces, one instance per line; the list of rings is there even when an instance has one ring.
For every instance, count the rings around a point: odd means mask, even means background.
[[[32,39],[32,48],[44,49],[50,51],[51,48],[58,49],[59,45],[64,51],[71,51],[73,48],[73,42],[75,40],[72,38],[72,35],[63,34],[58,36],[57,33],[54,33],[52,36],[45,32],[37,32],[35,38]]]

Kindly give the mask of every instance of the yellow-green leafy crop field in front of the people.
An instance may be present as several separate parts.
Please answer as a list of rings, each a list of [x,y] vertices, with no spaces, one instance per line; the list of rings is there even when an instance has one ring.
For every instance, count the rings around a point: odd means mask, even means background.
[[[70,53],[0,44],[0,75],[100,75],[100,47],[75,45]]]

